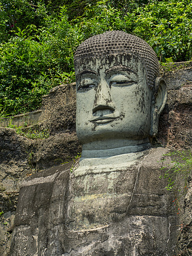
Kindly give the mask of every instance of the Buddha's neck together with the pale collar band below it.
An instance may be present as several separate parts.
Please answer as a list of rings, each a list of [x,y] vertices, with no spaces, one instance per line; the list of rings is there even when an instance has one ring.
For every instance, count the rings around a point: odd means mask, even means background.
[[[114,139],[86,143],[82,146],[79,167],[73,174],[81,176],[93,172],[111,172],[127,168],[145,156],[148,153],[146,149],[150,147],[148,139]]]

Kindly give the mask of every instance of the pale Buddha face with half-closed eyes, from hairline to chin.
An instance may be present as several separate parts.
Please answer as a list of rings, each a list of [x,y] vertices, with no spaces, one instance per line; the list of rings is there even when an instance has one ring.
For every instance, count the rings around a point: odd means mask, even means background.
[[[85,59],[76,78],[76,132],[81,143],[149,137],[152,91],[138,57]]]

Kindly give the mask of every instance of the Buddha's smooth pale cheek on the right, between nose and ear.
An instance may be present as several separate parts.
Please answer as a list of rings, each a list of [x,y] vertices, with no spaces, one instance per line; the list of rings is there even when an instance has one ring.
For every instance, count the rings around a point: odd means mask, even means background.
[[[111,98],[120,118],[110,126],[116,132],[126,133],[126,137],[147,137],[151,127],[151,97],[146,84],[111,88]]]

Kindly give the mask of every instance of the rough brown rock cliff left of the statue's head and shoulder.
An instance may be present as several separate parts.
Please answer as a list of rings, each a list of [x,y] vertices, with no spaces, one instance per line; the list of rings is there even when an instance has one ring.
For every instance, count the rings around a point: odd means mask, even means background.
[[[53,88],[43,97],[42,109],[1,126],[22,126],[35,139],[18,135],[17,129],[0,127],[0,254],[8,255],[20,183],[42,169],[69,162],[81,152],[75,133],[75,84]],[[27,127],[25,124],[27,123]],[[49,130],[49,137],[36,133]]]

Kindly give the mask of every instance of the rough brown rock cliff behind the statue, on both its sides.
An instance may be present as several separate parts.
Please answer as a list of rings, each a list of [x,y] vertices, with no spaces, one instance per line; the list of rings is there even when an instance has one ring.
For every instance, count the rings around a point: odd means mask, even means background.
[[[191,84],[192,68],[176,69],[164,73],[168,85],[168,101],[159,120],[159,133],[153,145],[172,149],[190,149]],[[8,255],[9,241],[21,181],[45,168],[62,164],[81,152],[75,134],[75,84],[60,85],[43,97],[42,108],[34,113],[14,117],[12,124],[26,129],[49,129],[49,137],[43,140],[27,139],[14,129],[0,128],[0,196],[1,196],[1,255]],[[1,122],[6,126],[6,121]],[[189,183],[191,181],[188,181]],[[190,232],[188,216],[191,209],[190,189],[183,204],[184,222],[187,226],[180,233],[180,255],[187,253],[187,236]],[[4,212],[4,214],[2,213]],[[181,218],[182,219],[182,218]],[[182,220],[183,222],[183,220]],[[185,249],[185,254],[182,252]]]

